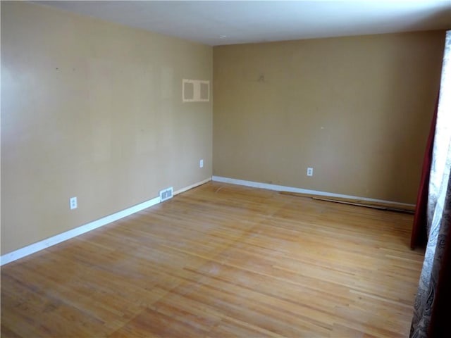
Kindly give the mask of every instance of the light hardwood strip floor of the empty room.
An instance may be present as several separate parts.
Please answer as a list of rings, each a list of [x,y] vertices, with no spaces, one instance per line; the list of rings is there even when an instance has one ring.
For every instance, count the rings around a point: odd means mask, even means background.
[[[412,215],[210,182],[1,268],[1,337],[407,337]]]

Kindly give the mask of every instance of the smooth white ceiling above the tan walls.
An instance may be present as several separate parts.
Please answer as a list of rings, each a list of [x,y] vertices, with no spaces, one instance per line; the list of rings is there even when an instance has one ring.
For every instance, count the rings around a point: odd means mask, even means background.
[[[35,2],[211,46],[451,29],[451,0]]]

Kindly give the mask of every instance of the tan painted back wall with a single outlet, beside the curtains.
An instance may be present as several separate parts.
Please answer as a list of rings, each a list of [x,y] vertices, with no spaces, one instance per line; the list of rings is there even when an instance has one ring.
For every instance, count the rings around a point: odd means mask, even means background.
[[[214,175],[414,204],[444,39],[214,47]]]

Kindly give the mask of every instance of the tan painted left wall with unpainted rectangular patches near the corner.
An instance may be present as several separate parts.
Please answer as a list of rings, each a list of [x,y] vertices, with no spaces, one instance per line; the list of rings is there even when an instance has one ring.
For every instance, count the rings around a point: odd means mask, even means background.
[[[211,177],[211,102],[183,104],[181,85],[212,80],[212,58],[210,46],[2,1],[1,253]]]

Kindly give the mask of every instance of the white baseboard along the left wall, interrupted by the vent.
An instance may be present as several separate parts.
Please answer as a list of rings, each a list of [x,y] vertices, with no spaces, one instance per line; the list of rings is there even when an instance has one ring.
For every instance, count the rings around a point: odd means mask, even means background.
[[[192,188],[198,187],[199,185],[205,184],[206,182],[211,181],[211,177],[203,180],[201,182],[197,182],[191,184],[188,187],[182,188],[174,192],[174,195],[181,194],[182,192],[186,192]],[[17,261],[20,258],[25,256],[29,256],[32,253],[36,253],[37,251],[41,251],[47,249],[49,246],[54,246],[58,243],[64,242],[73,237],[80,236],[80,234],[85,234],[91,230],[97,229],[98,227],[103,227],[109,223],[113,223],[116,220],[120,220],[121,218],[132,215],[133,213],[137,213],[146,208],[150,208],[151,206],[155,206],[156,204],[161,203],[160,197],[155,197],[154,199],[149,199],[149,201],[144,201],[135,206],[131,206],[130,208],[126,208],[123,211],[118,211],[117,213],[113,213],[112,215],[108,215],[104,218],[100,218],[99,220],[94,220],[85,225],[81,225],[80,227],[75,227],[75,229],[68,230],[66,232],[62,232],[61,234],[56,234],[55,236],[49,237],[47,239],[43,239],[40,242],[36,242],[23,248],[17,249],[15,251],[11,251],[10,253],[5,253],[0,257],[0,266],[11,263],[13,261]]]

